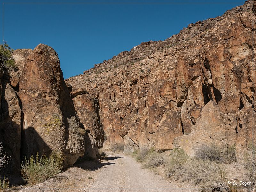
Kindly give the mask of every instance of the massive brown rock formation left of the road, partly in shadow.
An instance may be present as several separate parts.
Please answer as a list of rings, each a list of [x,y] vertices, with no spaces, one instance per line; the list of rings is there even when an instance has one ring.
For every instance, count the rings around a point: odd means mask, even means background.
[[[79,157],[95,158],[104,137],[97,100],[87,94],[77,97],[74,106],[58,55],[47,45],[15,50],[12,58],[17,70],[4,68],[4,151],[11,159],[5,174],[19,171],[25,156],[37,153],[61,152],[64,167]],[[79,113],[83,124],[75,110],[81,102],[87,106]]]

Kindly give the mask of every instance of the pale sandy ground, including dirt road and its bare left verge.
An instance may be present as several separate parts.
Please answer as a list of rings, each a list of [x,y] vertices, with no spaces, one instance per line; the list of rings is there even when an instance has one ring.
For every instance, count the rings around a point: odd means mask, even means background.
[[[143,169],[141,164],[132,157],[116,153],[109,153],[108,157],[103,160],[77,163],[76,167],[69,168],[43,183],[34,186],[18,186],[16,188],[21,187],[24,189],[15,191],[184,191],[183,189],[177,190],[180,186],[178,187],[176,184],[163,179],[160,175],[155,175],[154,172]],[[32,188],[40,188],[40,190],[31,190]],[[49,190],[49,188],[58,188],[58,190]],[[64,188],[69,190],[64,190]],[[160,188],[167,190],[159,190]]]

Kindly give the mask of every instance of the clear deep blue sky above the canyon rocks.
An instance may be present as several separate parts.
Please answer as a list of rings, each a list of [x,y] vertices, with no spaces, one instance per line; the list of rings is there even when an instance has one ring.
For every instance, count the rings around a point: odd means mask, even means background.
[[[164,40],[179,33],[190,23],[220,16],[238,5],[240,4],[4,4],[4,41],[13,49],[34,49],[39,43],[53,47],[59,55],[64,78],[68,78],[81,74],[94,64],[108,60],[122,51],[129,51],[141,42]]]

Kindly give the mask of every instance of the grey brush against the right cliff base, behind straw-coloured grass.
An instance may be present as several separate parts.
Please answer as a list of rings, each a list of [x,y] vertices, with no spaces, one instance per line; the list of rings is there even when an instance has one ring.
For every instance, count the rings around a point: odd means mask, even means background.
[[[196,151],[195,157],[204,160],[230,163],[236,161],[235,151],[235,145],[230,146],[226,152],[221,152],[218,145],[214,143],[212,143],[211,145],[203,144]]]

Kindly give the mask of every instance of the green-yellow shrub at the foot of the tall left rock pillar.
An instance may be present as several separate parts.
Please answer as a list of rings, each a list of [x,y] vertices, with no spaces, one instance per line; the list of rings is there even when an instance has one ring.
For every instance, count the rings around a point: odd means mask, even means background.
[[[53,152],[49,157],[43,155],[36,159],[33,155],[30,159],[25,157],[25,163],[21,164],[22,178],[30,185],[43,182],[44,180],[58,174],[62,170],[64,157],[60,153]]]

